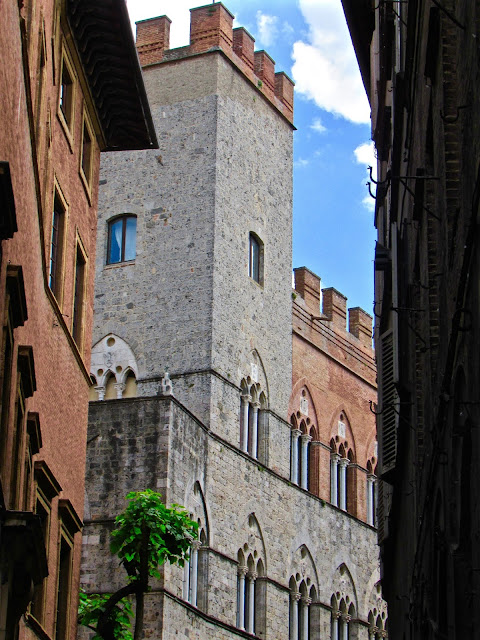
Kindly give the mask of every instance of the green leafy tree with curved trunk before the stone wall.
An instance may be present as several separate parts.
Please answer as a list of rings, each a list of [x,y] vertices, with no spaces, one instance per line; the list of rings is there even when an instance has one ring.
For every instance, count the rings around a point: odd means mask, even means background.
[[[79,622],[95,631],[93,640],[132,640],[130,595],[135,595],[133,640],[143,630],[144,595],[150,577],[160,577],[165,562],[184,565],[198,524],[178,504],[167,507],[151,489],[127,495],[125,511],[115,519],[110,550],[120,558],[128,583],[112,595],[81,594]]]

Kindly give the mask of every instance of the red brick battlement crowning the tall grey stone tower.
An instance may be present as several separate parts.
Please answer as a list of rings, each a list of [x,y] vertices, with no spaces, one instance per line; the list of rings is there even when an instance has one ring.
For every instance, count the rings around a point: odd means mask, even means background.
[[[255,40],[243,27],[233,28],[234,16],[220,2],[190,9],[190,44],[170,49],[171,20],[159,16],[137,25],[137,50],[143,67],[222,51],[260,93],[293,123],[294,83],[266,51],[255,51]]]

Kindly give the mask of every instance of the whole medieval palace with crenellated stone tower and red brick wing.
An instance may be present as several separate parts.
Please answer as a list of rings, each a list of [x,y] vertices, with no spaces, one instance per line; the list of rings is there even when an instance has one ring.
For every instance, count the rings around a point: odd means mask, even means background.
[[[380,638],[372,319],[301,268],[292,320],[293,85],[232,23],[137,25],[160,148],[102,159],[81,580],[125,583],[109,531],[150,487],[199,539],[145,637]]]

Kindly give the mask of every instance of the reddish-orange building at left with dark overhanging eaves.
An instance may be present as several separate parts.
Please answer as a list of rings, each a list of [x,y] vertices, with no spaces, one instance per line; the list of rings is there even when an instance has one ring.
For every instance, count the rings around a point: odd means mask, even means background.
[[[0,638],[71,640],[100,151],[156,138],[124,3],[6,0],[0,52]]]

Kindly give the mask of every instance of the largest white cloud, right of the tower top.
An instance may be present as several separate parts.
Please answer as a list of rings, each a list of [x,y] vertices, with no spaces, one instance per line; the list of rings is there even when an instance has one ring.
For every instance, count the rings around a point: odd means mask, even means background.
[[[319,107],[355,123],[370,121],[370,108],[339,0],[299,0],[309,26],[293,45],[296,91]]]

